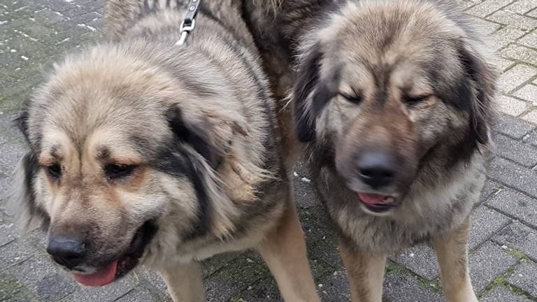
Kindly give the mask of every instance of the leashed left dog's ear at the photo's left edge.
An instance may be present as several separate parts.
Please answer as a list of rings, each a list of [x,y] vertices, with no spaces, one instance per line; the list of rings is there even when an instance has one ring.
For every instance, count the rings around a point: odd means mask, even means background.
[[[50,217],[37,203],[35,180],[39,170],[36,154],[24,154],[15,168],[9,210],[20,220],[24,229],[47,229]]]

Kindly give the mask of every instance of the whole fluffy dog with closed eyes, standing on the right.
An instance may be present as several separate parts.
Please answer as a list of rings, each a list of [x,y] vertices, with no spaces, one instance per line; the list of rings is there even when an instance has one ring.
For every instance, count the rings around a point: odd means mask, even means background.
[[[468,217],[485,180],[496,78],[480,31],[450,1],[248,8],[266,61],[280,62],[266,66],[273,87],[293,85],[296,133],[340,230],[353,301],[380,302],[387,254],[418,243],[436,249],[447,301],[477,301]],[[285,67],[293,56],[296,72]]]

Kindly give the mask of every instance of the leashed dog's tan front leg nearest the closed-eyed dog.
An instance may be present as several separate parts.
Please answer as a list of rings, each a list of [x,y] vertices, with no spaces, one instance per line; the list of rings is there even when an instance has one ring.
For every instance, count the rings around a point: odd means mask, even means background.
[[[308,264],[302,227],[291,203],[257,250],[271,269],[285,301],[320,301]]]

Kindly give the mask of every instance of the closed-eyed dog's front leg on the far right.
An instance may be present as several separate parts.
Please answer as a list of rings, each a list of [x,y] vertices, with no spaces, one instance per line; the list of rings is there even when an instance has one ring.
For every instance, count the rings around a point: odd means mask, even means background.
[[[468,218],[459,229],[445,233],[433,242],[447,302],[478,302],[468,273],[469,228]]]

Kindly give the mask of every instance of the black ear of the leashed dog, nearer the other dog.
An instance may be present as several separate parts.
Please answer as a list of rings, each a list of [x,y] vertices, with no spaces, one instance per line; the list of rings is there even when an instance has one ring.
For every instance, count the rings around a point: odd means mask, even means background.
[[[215,146],[211,143],[208,124],[198,125],[189,122],[178,106],[166,110],[166,120],[179,141],[192,146],[212,168],[216,168],[220,159]]]

